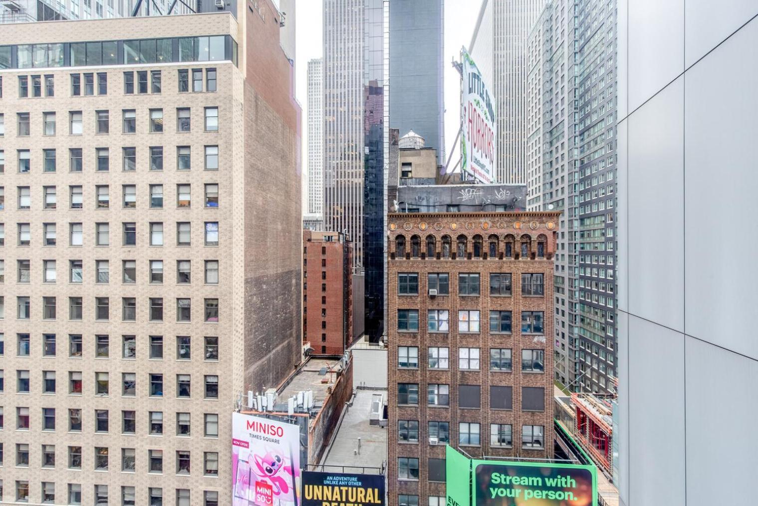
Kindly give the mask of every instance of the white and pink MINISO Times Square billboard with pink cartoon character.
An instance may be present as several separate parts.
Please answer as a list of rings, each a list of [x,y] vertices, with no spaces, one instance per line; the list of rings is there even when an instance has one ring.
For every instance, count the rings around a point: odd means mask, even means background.
[[[300,429],[232,414],[233,506],[299,506]]]

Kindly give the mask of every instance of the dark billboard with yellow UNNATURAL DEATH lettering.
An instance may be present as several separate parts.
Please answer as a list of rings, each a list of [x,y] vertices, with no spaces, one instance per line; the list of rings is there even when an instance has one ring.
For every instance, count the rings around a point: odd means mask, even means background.
[[[302,473],[302,506],[384,506],[384,474]]]

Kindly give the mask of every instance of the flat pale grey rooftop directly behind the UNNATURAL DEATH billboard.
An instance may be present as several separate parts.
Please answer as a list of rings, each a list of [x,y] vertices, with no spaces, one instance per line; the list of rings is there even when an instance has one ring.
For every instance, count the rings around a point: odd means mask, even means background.
[[[369,423],[371,401],[375,395],[382,395],[383,400],[386,400],[387,390],[356,390],[352,405],[346,408],[337,434],[321,458],[320,464],[324,466],[325,471],[337,472],[337,467],[343,466],[384,466],[387,460],[387,429]]]

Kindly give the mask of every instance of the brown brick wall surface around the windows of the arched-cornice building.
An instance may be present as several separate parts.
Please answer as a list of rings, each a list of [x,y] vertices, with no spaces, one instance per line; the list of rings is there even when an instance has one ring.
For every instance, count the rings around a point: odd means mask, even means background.
[[[390,214],[388,255],[388,475],[390,504],[397,504],[398,494],[418,495],[418,504],[427,504],[429,495],[445,495],[444,483],[431,482],[428,476],[429,458],[444,458],[444,445],[428,442],[428,421],[449,423],[449,442],[459,445],[459,423],[480,424],[480,445],[462,446],[473,457],[489,455],[503,458],[551,458],[553,456],[553,255],[555,254],[555,234],[557,213],[471,213],[471,214]],[[518,228],[516,228],[518,226]],[[394,230],[393,230],[394,227]],[[396,237],[406,236],[406,251],[411,251],[413,235],[421,237],[421,251],[426,251],[425,239],[434,236],[436,251],[441,250],[444,235],[451,237],[451,251],[456,250],[456,237],[467,236],[467,251],[472,251],[472,239],[480,235],[483,252],[487,251],[490,234],[498,237],[498,252],[504,251],[506,235],[511,234],[516,242],[522,236],[528,239],[531,251],[537,251],[537,236],[544,243],[543,258],[471,258],[463,259],[416,258],[406,259],[396,255]],[[515,247],[514,252],[519,248]],[[410,257],[410,255],[408,255]],[[398,295],[398,273],[418,273],[418,295]],[[428,273],[449,273],[449,295],[428,295]],[[480,295],[459,296],[458,274],[480,273]],[[512,274],[512,295],[490,296],[490,273]],[[544,295],[526,297],[521,295],[521,274],[543,273]],[[398,309],[417,309],[419,314],[418,332],[398,331]],[[449,311],[449,332],[429,333],[427,312],[431,309]],[[458,332],[459,310],[480,311],[481,331],[479,333]],[[490,333],[490,310],[512,311],[512,333]],[[521,311],[543,311],[543,333],[522,334]],[[418,346],[418,367],[399,368],[399,346]],[[428,367],[430,346],[449,348],[449,369]],[[459,348],[479,348],[480,367],[478,370],[459,370]],[[512,350],[512,372],[490,371],[490,348]],[[521,372],[522,349],[543,349],[543,373]],[[418,383],[418,406],[399,406],[398,383]],[[428,406],[427,386],[430,383],[449,385],[449,406]],[[481,408],[459,408],[459,385],[481,386]],[[512,386],[512,410],[490,408],[490,386]],[[544,411],[522,411],[522,387],[544,389]],[[398,420],[419,420],[419,442],[399,442]],[[512,448],[490,446],[490,423],[512,425]],[[522,448],[522,425],[544,426],[544,449]],[[418,480],[399,479],[398,458],[419,459]]]

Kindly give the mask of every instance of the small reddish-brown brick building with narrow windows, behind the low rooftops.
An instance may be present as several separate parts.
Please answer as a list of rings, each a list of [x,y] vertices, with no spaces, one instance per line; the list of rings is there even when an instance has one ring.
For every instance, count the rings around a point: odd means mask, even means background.
[[[302,342],[315,355],[342,355],[352,341],[352,242],[303,230],[302,276]]]

